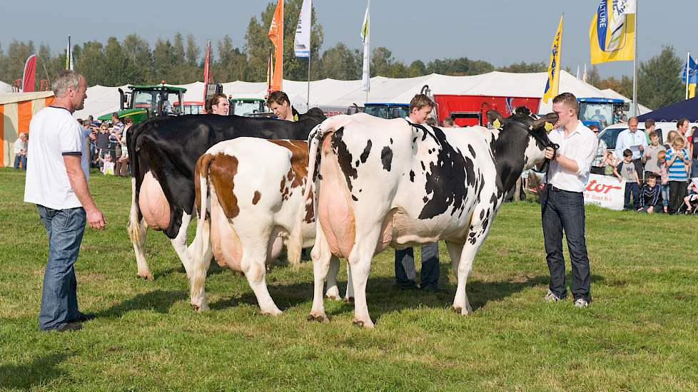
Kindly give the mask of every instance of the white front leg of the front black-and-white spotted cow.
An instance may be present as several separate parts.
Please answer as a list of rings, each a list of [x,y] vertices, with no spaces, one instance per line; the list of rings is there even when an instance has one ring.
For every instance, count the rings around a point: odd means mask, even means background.
[[[452,309],[463,315],[472,312],[470,301],[467,300],[467,294],[465,294],[465,282],[472,269],[472,262],[475,259],[475,254],[477,254],[482,243],[485,242],[487,233],[490,232],[490,227],[492,227],[492,220],[495,217],[494,207],[487,205],[486,208],[490,209],[490,213],[487,214],[489,219],[485,218],[484,221],[477,220],[477,222],[473,219],[473,222],[470,224],[470,230],[465,238],[465,245],[460,254],[460,261],[457,269],[458,287],[455,291]],[[475,208],[473,216],[479,217],[480,210]]]

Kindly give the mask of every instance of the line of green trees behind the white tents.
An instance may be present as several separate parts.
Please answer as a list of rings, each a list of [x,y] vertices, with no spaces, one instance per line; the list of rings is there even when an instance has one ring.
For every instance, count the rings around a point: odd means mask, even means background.
[[[284,15],[284,78],[304,81],[308,78],[308,59],[297,58],[293,53],[293,38],[298,23],[302,0],[285,1]],[[216,82],[266,80],[267,62],[272,43],[267,38],[268,26],[273,17],[275,2],[268,4],[259,16],[253,16],[248,24],[244,42],[233,44],[230,36],[224,36],[211,45],[211,67]],[[323,45],[323,26],[312,14],[310,79],[333,78],[355,80],[361,78],[363,50],[337,43],[320,54]],[[65,68],[65,50],[53,52],[41,43],[38,51],[34,42],[11,41],[5,49],[0,43],[0,81],[13,83],[21,78],[24,62],[36,53],[36,88],[39,81],[49,82]],[[203,80],[203,64],[206,47],[198,46],[190,34],[176,33],[173,38],[158,38],[155,45],[129,34],[123,40],[110,37],[106,43],[87,41],[73,47],[74,67],[82,73],[89,86],[121,86],[128,83],[186,84]],[[504,71],[515,73],[545,72],[547,63],[514,63],[495,67],[484,60],[467,57],[439,58],[428,63],[415,60],[409,64],[393,57],[385,47],[373,48],[370,57],[371,76],[410,78],[440,73],[450,76],[466,76]],[[672,46],[664,46],[657,56],[639,64],[638,101],[649,108],[659,108],[684,98],[684,85],[680,74],[683,63]],[[570,69],[567,68],[570,72]],[[597,68],[591,68],[587,82],[597,88],[612,88],[624,96],[632,97],[632,78],[601,78]]]

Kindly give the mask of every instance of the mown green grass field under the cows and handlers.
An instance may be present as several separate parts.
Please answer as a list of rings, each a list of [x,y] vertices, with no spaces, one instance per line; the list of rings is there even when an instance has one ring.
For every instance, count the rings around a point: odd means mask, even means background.
[[[37,330],[37,314],[46,234],[34,205],[22,202],[24,175],[0,170],[1,388],[698,389],[692,217],[587,207],[594,301],[575,309],[571,299],[541,300],[549,277],[540,207],[504,205],[467,282],[472,315],[448,309],[455,279],[443,244],[447,292],[439,294],[395,289],[387,251],[374,258],[368,282],[376,321],[369,331],[351,324],[353,306],[341,301],[325,301],[328,324],[305,321],[310,262],[298,271],[277,264],[268,275],[281,316],[260,315],[246,279],[218,267],[206,287],[211,311],[197,314],[163,234],[148,233],[156,280],[136,279],[126,234],[129,180],[93,174],[90,181],[107,229],[86,229],[76,270],[81,310],[98,317],[82,331],[45,333]],[[674,245],[660,247],[664,238]],[[342,267],[340,289],[345,279]]]

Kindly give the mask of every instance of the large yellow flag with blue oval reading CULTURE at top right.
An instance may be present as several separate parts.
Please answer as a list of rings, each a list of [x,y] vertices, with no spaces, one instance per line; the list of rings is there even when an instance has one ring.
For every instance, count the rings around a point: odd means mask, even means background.
[[[635,1],[601,0],[589,26],[592,64],[635,57]]]

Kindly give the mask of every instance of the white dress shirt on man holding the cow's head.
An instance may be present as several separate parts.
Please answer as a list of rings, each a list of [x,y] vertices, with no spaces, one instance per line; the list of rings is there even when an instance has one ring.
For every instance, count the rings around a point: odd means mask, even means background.
[[[560,145],[558,154],[575,160],[579,170],[572,172],[565,169],[556,160],[550,161],[547,170],[548,183],[561,190],[570,192],[584,192],[589,181],[589,170],[599,145],[595,133],[587,128],[582,121],[577,120],[577,128],[565,136],[565,128],[555,128],[550,131],[548,138],[552,143]]]

